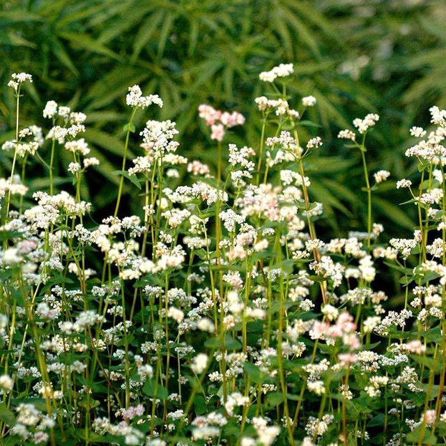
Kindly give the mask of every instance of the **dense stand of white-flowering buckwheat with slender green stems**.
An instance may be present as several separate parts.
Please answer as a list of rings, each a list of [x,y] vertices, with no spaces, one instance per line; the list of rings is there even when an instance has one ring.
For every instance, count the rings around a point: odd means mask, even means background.
[[[306,116],[316,98],[287,95],[293,71],[260,73],[253,147],[232,142],[243,114],[200,105],[215,169],[187,158],[176,123],[151,120],[158,95],[130,86],[117,199],[101,221],[84,196],[100,163],[86,115],[49,100],[43,127],[24,127],[33,79],[13,74],[2,445],[446,444],[446,111],[408,130],[418,172],[397,188],[417,219],[389,243],[374,194],[390,173],[367,164],[367,134],[386,123],[367,114],[339,132],[360,153],[367,224],[325,239],[306,173],[323,145]],[[72,184],[54,176],[61,153]],[[27,185],[36,164],[40,190]],[[137,215],[123,212],[125,185]],[[404,291],[392,310],[391,272]]]

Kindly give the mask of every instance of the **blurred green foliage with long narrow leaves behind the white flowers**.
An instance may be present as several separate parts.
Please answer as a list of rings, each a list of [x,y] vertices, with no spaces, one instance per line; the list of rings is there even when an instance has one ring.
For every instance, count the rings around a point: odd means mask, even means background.
[[[443,0],[3,0],[0,139],[12,137],[14,126],[8,79],[12,72],[30,72],[34,82],[22,125],[43,125],[47,100],[89,116],[86,139],[101,165],[82,193],[106,213],[116,188],[103,186],[103,177],[118,180],[112,171],[121,160],[128,86],[140,84],[165,104],[160,112],[139,113],[137,128],[148,118],[171,118],[180,130],[179,153],[213,166],[215,146],[203,133],[198,105],[245,114],[244,128],[225,142],[256,148],[260,120],[253,100],[267,90],[258,74],[293,62],[289,102],[316,96],[309,118],[323,126],[304,129],[324,140],[307,167],[312,198],[325,206],[321,224],[329,233],[364,229],[360,154],[337,141],[337,132],[355,117],[380,114],[369,137],[372,172],[388,169],[394,180],[410,178],[416,167],[403,157],[411,144],[408,128],[427,125],[431,105],[446,105],[445,31]],[[137,137],[132,143],[138,153]],[[41,155],[46,159],[48,150]],[[57,161],[59,183],[69,182],[63,150]],[[2,176],[9,165],[2,156]],[[30,173],[31,191],[45,187],[45,167]],[[374,220],[390,234],[412,225],[394,180],[374,199]],[[127,205],[136,211],[140,200],[131,197]]]

